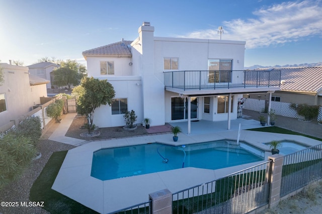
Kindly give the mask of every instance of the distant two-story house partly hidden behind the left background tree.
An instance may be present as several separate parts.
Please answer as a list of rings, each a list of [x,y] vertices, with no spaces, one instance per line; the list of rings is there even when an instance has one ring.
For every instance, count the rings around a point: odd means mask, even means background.
[[[27,67],[29,68],[30,74],[49,80],[49,82],[47,83],[48,89],[50,89],[54,86],[52,84],[52,81],[54,79],[53,78],[54,75],[53,75],[52,71],[55,68],[59,68],[59,65],[51,63],[51,62],[39,62],[36,64],[29,65]]]

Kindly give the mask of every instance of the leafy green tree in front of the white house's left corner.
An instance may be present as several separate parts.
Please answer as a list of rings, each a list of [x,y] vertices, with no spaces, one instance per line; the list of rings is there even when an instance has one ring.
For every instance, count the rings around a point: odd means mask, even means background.
[[[74,87],[72,92],[77,94],[76,111],[88,118],[88,130],[91,132],[96,108],[101,105],[111,105],[115,96],[114,88],[106,79],[83,77],[81,84]]]

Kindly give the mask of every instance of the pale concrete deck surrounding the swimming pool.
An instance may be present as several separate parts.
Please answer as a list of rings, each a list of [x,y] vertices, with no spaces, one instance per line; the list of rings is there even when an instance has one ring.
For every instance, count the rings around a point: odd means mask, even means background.
[[[321,142],[298,135],[266,133],[242,130],[240,141],[265,150],[264,161],[243,164],[224,169],[209,170],[199,168],[182,168],[155,172],[125,178],[102,181],[91,177],[93,152],[102,148],[131,146],[147,143],[163,143],[174,146],[216,140],[236,140],[238,131],[226,131],[212,134],[179,134],[178,142],[172,140],[172,134],[149,135],[106,141],[95,141],[68,151],[65,160],[54,181],[52,189],[84,204],[100,213],[109,213],[124,207],[147,201],[148,194],[162,189],[177,191],[206,183],[236,171],[254,166],[268,160],[269,146],[263,144],[272,140],[295,141],[309,146]],[[265,139],[263,141],[262,139]],[[200,176],[202,174],[202,176]]]

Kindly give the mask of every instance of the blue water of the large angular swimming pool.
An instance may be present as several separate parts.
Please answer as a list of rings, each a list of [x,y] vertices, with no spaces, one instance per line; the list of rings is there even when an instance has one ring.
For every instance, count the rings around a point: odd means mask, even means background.
[[[158,143],[100,149],[93,153],[91,176],[110,180],[196,167],[220,169],[264,160],[265,152],[244,142],[215,141],[183,146]]]

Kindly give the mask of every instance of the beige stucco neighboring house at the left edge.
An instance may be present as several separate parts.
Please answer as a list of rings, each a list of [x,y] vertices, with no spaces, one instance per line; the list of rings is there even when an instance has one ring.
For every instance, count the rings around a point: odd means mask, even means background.
[[[0,126],[28,113],[47,96],[46,79],[29,75],[28,67],[0,63],[5,81],[0,85]]]

